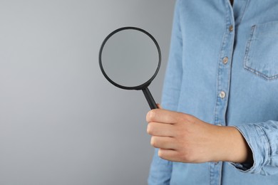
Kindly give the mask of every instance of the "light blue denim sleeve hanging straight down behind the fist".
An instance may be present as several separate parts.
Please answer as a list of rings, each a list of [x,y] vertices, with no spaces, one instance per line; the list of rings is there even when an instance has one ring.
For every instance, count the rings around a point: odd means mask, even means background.
[[[162,106],[164,109],[177,111],[182,80],[182,36],[180,31],[179,0],[175,4],[173,31],[171,36],[170,54],[163,85]],[[148,184],[170,184],[173,162],[158,157],[155,149],[153,162],[150,166]]]

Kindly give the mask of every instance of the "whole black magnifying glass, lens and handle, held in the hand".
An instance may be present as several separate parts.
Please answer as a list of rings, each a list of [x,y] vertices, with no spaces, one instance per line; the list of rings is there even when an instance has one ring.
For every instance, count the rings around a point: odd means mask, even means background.
[[[103,41],[99,65],[105,78],[118,88],[143,90],[151,109],[158,106],[148,86],[158,74],[161,52],[147,31],[136,27],[118,28]]]

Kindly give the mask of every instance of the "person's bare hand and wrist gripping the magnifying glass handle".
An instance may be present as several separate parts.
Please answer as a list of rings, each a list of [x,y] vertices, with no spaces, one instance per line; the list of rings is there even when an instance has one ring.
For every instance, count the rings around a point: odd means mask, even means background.
[[[235,127],[221,127],[180,112],[163,109],[147,114],[150,144],[173,162],[245,162],[250,149]]]

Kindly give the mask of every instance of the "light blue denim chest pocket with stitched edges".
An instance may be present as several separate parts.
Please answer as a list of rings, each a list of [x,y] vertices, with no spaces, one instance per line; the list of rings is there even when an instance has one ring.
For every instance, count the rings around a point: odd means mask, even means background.
[[[244,68],[265,80],[278,78],[278,21],[252,26]]]

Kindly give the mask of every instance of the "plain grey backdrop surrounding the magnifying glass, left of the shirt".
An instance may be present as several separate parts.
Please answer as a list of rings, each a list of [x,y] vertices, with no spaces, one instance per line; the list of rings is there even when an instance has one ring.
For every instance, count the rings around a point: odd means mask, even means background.
[[[174,1],[0,0],[0,184],[146,184],[153,155],[140,91],[115,88],[98,67],[103,38],[138,26],[163,60]]]

